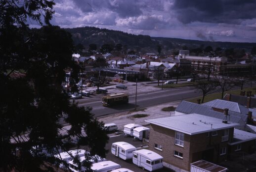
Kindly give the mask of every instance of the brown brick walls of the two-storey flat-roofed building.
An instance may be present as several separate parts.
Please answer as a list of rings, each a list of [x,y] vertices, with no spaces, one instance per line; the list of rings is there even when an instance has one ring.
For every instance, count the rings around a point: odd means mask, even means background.
[[[229,129],[229,140],[233,137],[233,130]],[[225,146],[228,150],[227,141],[221,142],[224,130],[218,130],[217,136],[207,137],[207,133],[197,135],[184,135],[184,146],[174,144],[175,131],[160,127],[154,124],[150,125],[149,149],[157,152],[164,157],[164,161],[179,167],[181,169],[190,170],[190,163],[201,160],[205,150],[213,149],[213,162],[220,162],[227,159],[226,155],[220,154],[220,147]],[[154,148],[154,144],[162,145],[162,151]],[[174,156],[174,150],[183,153],[183,159]]]

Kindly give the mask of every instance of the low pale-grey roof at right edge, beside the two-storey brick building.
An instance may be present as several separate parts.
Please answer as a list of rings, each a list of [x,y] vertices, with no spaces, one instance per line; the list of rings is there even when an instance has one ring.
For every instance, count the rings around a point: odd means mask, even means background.
[[[256,134],[247,131],[234,129],[234,137],[230,145],[256,140]]]

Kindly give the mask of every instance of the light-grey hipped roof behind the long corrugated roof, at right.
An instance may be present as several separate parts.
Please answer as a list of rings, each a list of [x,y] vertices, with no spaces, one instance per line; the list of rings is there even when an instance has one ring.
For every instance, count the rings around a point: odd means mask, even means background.
[[[220,100],[220,99],[215,99],[213,101],[204,103],[202,105],[210,106],[210,107],[218,108],[218,109],[223,109],[223,110],[225,108],[228,108],[228,111],[241,113],[241,114],[248,114],[248,112],[249,112],[249,109],[240,105],[239,103],[230,102],[230,101],[226,101],[226,100]]]

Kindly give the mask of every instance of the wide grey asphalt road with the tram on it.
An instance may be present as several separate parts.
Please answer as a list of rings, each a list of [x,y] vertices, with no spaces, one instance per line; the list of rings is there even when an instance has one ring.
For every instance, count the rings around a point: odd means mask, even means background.
[[[128,90],[127,90],[128,91]],[[184,100],[188,98],[193,98],[200,96],[201,94],[195,90],[195,88],[190,86],[176,87],[154,90],[150,92],[142,92],[137,94],[137,108],[144,108],[154,105],[159,105],[162,103],[168,103],[177,100]],[[92,107],[92,113],[95,117],[120,113],[124,111],[133,110],[135,108],[135,95],[133,93],[129,94],[129,103],[113,106],[113,107],[103,107],[100,98],[98,101],[96,99],[93,102],[79,103],[79,106],[90,106]]]

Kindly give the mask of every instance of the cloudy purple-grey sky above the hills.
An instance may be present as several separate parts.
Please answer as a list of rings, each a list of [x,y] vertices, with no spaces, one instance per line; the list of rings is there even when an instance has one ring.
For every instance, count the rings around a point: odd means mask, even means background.
[[[256,42],[256,0],[54,0],[53,25]]]

